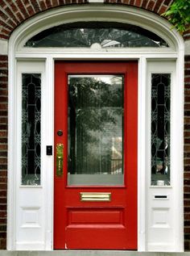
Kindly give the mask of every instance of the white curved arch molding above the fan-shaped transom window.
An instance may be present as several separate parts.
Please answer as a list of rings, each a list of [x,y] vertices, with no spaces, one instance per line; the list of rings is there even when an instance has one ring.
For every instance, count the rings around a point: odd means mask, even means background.
[[[63,23],[88,21],[109,21],[118,23],[130,23],[143,27],[166,40],[170,48],[166,51],[178,51],[183,45],[181,36],[175,29],[171,29],[171,24],[159,15],[154,15],[146,10],[140,10],[132,6],[112,6],[112,5],[85,5],[85,6],[64,6],[56,10],[48,10],[43,14],[36,15],[16,29],[10,37],[10,44],[14,44],[14,50],[18,52],[26,51],[23,45],[32,36],[50,27],[55,27]],[[36,51],[28,49],[27,51]],[[42,49],[41,49],[42,50]],[[165,49],[162,49],[163,51]],[[60,50],[60,51],[63,51]],[[160,49],[159,49],[160,52]]]

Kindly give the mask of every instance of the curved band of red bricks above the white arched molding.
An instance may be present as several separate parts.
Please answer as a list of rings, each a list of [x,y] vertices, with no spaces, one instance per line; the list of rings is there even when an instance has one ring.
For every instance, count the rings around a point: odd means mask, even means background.
[[[106,4],[127,5],[162,15],[173,0],[103,0]],[[102,1],[102,2],[103,2]],[[9,40],[12,31],[25,20],[52,8],[70,4],[88,4],[89,0],[16,0],[0,2],[0,40]]]

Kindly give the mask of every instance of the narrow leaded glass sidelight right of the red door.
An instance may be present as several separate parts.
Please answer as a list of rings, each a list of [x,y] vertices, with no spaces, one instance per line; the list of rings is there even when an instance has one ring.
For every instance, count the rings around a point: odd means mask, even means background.
[[[151,75],[151,185],[170,185],[171,74]]]

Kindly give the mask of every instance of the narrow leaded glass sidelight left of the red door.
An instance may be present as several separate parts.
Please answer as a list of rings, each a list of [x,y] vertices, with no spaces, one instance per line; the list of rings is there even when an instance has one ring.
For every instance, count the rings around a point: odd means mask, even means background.
[[[40,185],[41,75],[22,75],[22,185]]]

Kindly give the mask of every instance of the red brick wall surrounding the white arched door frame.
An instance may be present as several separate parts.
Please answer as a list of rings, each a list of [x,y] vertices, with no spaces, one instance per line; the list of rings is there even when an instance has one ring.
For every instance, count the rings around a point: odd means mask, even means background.
[[[8,40],[20,23],[44,10],[88,0],[0,0],[0,40]],[[125,4],[161,15],[173,0],[105,0],[107,4]],[[190,38],[190,31],[184,39]],[[0,55],[0,250],[6,249],[7,180],[7,57]],[[190,250],[190,57],[185,57],[184,107],[184,238]]]

